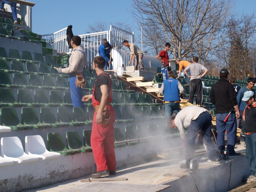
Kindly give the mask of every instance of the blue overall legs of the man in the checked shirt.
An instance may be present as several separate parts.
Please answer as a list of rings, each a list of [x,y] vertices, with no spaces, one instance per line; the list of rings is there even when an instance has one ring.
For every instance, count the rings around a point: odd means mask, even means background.
[[[73,107],[82,107],[85,111],[84,102],[82,101],[83,89],[77,87],[75,82],[76,76],[69,77],[70,94]]]

